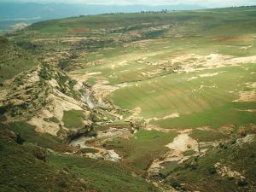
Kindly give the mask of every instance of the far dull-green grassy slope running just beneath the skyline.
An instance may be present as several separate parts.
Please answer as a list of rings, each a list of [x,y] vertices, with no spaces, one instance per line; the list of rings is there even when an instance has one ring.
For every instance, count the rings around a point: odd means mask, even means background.
[[[255,9],[255,8],[250,8]],[[234,17],[236,15],[236,17]],[[243,32],[248,32],[248,29],[253,30],[251,22],[255,24],[255,14],[253,11],[247,11],[247,9],[209,9],[206,11],[177,11],[172,13],[156,13],[156,14],[119,14],[119,15],[97,15],[97,16],[85,16],[79,18],[68,18],[62,20],[49,20],[38,22],[33,24],[28,29],[36,32],[68,32],[68,29],[84,29],[84,33],[90,32],[90,30],[95,29],[113,29],[118,27],[124,27],[125,31],[131,29],[128,26],[136,26],[137,24],[150,23],[151,25],[160,24],[170,24],[172,22],[179,22],[181,24],[189,24],[186,30],[183,32],[191,32],[192,30],[201,31],[203,34],[205,32],[212,33],[212,29],[217,34],[241,34]],[[237,20],[236,18],[239,18]],[[194,21],[192,24],[191,21]],[[195,27],[190,28],[192,25],[200,26],[200,28],[195,29]],[[228,25],[228,27],[224,25]],[[230,26],[234,27],[238,25],[239,30],[233,32]],[[142,27],[142,26],[137,26]],[[189,30],[190,28],[190,30]],[[226,29],[230,29],[227,32]],[[86,31],[87,30],[87,31]],[[231,32],[231,33],[230,33]]]

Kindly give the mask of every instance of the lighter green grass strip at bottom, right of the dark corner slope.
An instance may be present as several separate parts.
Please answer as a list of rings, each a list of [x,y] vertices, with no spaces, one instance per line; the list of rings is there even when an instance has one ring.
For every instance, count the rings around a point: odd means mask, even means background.
[[[50,155],[49,164],[57,169],[67,168],[77,177],[92,183],[97,191],[157,191],[143,178],[132,177],[125,167],[104,160],[92,160],[79,155]]]

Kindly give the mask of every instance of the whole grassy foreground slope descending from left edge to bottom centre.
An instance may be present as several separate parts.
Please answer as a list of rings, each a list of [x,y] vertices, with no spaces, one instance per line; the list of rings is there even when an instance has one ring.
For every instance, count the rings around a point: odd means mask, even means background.
[[[17,126],[0,127],[0,151],[4,156],[0,171],[5,172],[0,178],[3,191],[157,191],[143,178],[131,176],[125,166],[112,162],[91,160],[79,154],[46,154],[46,162],[38,160],[34,154],[40,147],[61,150],[66,145],[32,131],[28,133],[24,131],[25,125],[20,130]],[[15,143],[9,129],[20,131],[26,142]]]

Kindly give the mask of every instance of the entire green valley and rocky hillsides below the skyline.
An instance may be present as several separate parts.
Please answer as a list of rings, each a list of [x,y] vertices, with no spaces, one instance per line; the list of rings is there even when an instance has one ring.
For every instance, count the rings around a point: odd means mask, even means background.
[[[35,188],[5,182],[22,151],[36,182],[54,172],[47,190],[254,191],[255,13],[79,16],[1,38],[2,186]]]

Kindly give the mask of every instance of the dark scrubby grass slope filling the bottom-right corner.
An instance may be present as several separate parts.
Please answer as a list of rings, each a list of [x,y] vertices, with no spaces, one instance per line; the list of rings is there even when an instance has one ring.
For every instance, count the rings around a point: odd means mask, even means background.
[[[224,147],[215,148],[200,159],[190,158],[183,165],[170,168],[166,182],[172,185],[175,181],[185,183],[186,190],[253,191],[256,187],[255,147],[255,140],[253,143],[226,143]],[[221,177],[218,172],[211,172],[218,162],[245,176],[246,186],[241,186],[239,179]]]

